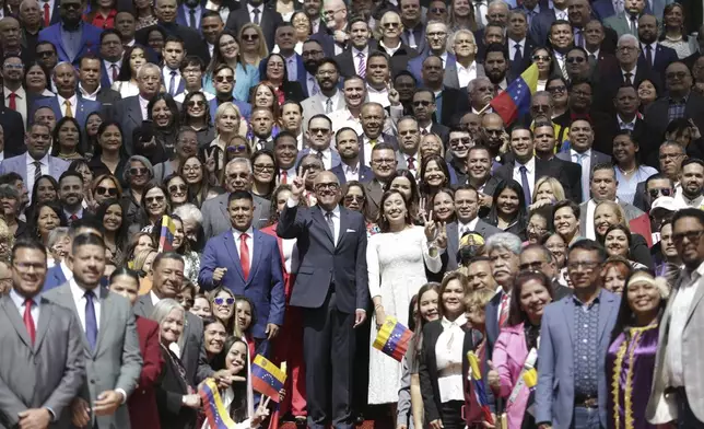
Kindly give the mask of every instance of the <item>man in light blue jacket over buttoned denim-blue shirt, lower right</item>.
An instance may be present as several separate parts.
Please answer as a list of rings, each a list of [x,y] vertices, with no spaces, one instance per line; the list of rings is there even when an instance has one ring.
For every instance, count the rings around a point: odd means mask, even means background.
[[[574,294],[544,310],[535,404],[541,428],[607,427],[605,362],[621,300],[601,288],[606,258],[592,240],[574,243],[567,255]]]

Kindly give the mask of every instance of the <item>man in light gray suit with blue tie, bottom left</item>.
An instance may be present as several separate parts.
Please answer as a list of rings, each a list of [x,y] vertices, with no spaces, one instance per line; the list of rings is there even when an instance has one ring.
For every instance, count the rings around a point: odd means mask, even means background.
[[[44,297],[71,310],[84,332],[81,344],[87,379],[71,404],[72,422],[79,428],[129,428],[126,402],[142,371],[131,305],[101,288],[105,242],[98,235],[73,239],[67,263],[73,278]]]

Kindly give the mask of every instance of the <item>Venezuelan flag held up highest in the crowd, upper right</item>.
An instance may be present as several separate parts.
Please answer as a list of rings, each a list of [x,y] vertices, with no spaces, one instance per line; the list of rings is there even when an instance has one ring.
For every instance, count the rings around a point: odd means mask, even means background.
[[[538,66],[532,65],[489,103],[506,126],[530,111],[530,97],[538,89]]]

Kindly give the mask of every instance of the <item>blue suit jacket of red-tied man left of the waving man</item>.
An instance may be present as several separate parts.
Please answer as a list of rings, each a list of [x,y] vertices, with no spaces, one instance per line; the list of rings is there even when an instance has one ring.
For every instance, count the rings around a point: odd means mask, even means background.
[[[232,229],[216,235],[206,243],[200,259],[198,283],[204,290],[211,290],[215,268],[227,268],[220,282],[236,295],[245,295],[255,304],[253,309],[257,324],[251,327],[255,338],[266,338],[267,324],[283,324],[285,295],[283,291],[283,273],[281,254],[277,239],[254,230],[254,254],[250,255],[251,267],[245,280]]]

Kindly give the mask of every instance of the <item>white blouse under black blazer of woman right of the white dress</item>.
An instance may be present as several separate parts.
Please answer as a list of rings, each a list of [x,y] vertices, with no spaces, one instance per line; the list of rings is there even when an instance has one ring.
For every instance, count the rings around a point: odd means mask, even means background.
[[[437,363],[437,387],[442,404],[450,401],[465,401],[462,383],[462,347],[467,317],[462,313],[454,322],[443,317],[443,333],[435,344],[435,361]]]

